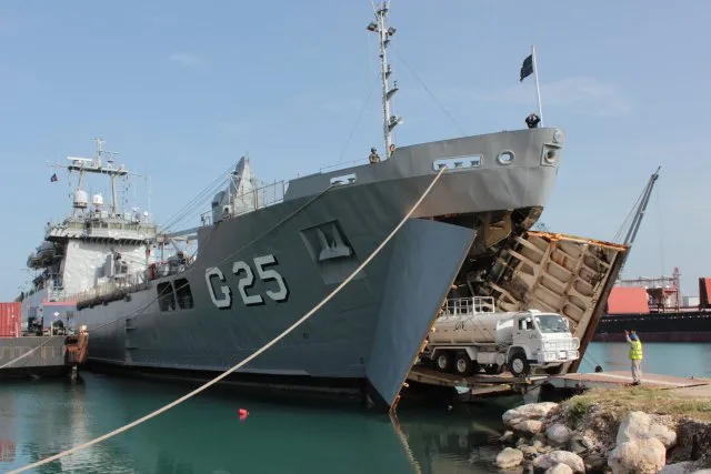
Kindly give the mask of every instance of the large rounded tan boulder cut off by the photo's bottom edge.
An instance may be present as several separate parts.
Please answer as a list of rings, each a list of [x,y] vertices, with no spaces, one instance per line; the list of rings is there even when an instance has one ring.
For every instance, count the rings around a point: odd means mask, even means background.
[[[667,450],[655,437],[638,437],[618,444],[608,458],[614,474],[655,474],[665,462]]]

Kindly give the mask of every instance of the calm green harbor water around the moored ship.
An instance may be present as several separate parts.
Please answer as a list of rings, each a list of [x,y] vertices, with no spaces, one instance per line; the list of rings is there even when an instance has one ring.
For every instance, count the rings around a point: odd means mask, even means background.
[[[711,376],[711,344],[649,343],[643,370]],[[593,343],[582,371],[628,369],[627,345]],[[183,385],[82,373],[80,381],[0,382],[0,473],[124,425],[184,394]],[[277,403],[278,402],[278,403]],[[399,423],[323,402],[208,391],[127,433],[36,472],[488,473],[504,397],[448,410],[408,406]],[[240,421],[239,410],[249,416]]]

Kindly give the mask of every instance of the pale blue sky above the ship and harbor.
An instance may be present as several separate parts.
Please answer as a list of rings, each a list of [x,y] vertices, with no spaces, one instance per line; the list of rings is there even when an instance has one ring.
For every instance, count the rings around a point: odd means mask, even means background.
[[[709,18],[701,0],[392,0],[395,141],[524,128],[535,89],[518,74],[535,44],[544,123],[565,132],[541,222],[612,240],[661,165],[623,276],[678,266],[695,295],[711,276]],[[382,150],[372,19],[370,0],[2,2],[0,299],[70,211],[48,163],[91,157],[96,137],[150,175],[129,196],[159,223],[247,152],[274,181]]]

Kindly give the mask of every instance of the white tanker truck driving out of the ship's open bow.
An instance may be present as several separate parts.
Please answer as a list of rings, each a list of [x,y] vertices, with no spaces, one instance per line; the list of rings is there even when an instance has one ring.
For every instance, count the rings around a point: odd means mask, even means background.
[[[468,376],[483,367],[488,374],[508,369],[525,376],[532,367],[558,367],[579,357],[580,340],[568,320],[538,310],[497,312],[493,297],[447,300],[420,361],[440,372]]]

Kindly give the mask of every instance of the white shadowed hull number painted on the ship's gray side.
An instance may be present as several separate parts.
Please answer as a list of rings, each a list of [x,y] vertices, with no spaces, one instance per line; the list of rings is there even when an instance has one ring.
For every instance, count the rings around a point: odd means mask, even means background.
[[[264,283],[274,282],[277,286],[277,289],[267,290],[264,291],[264,293],[272,301],[276,301],[277,303],[281,303],[287,301],[287,299],[289,297],[289,286],[287,286],[287,282],[279,274],[279,272],[277,272],[277,270],[267,269],[267,266],[274,265],[274,264],[278,264],[278,262],[274,255],[272,254],[254,258],[254,269],[257,270],[257,275],[259,276],[259,279]],[[264,304],[264,297],[261,294],[248,293],[248,290],[254,286],[254,272],[252,271],[252,268],[247,262],[244,261],[234,262],[232,264],[232,273],[234,273],[234,275],[239,278],[237,290],[240,293],[242,303],[244,303],[247,306],[256,306],[259,304]],[[212,279],[218,279],[220,283],[222,283],[219,286],[219,292],[222,294],[219,296],[214,294],[216,292],[214,292],[214,286],[212,285],[212,281],[211,281]],[[226,280],[222,271],[217,266],[209,268],[204,272],[204,280],[208,283],[208,292],[210,293],[210,299],[212,300],[212,303],[214,303],[214,305],[220,310],[226,310],[231,307],[232,306],[232,289],[230,289],[230,286],[224,284]]]

